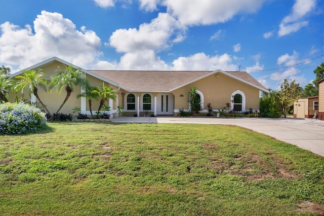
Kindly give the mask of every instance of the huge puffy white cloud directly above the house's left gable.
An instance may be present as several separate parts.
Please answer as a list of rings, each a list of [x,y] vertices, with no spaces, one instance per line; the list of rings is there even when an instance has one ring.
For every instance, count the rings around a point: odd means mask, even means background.
[[[101,41],[92,30],[80,31],[59,13],[42,11],[31,25],[0,25],[0,62],[25,68],[57,56],[78,66],[91,64],[100,55]]]

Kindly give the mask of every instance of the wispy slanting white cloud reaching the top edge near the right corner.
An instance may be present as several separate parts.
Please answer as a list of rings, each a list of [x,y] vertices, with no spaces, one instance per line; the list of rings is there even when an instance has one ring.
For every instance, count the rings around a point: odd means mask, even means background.
[[[284,36],[298,31],[308,25],[303,18],[315,9],[316,0],[296,0],[291,14],[282,19],[279,25],[278,36]]]

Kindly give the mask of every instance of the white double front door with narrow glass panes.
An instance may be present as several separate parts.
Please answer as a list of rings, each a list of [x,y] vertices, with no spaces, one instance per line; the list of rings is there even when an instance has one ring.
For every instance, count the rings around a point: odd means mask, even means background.
[[[173,115],[174,114],[174,96],[165,93],[158,94],[156,98],[156,115]]]

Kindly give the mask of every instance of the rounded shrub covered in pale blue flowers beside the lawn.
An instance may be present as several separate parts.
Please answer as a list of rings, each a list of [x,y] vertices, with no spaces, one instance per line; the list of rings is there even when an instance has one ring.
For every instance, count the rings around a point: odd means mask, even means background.
[[[34,106],[23,102],[0,104],[0,135],[39,130],[46,122],[45,113]]]

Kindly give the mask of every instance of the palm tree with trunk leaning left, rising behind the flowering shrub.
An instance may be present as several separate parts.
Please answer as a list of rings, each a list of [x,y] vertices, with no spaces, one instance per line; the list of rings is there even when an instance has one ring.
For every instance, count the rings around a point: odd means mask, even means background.
[[[21,90],[21,94],[23,94],[23,91],[25,89],[28,89],[29,94],[33,93],[37,98],[37,100],[39,101],[39,103],[42,104],[46,112],[50,113],[46,105],[38,96],[38,87],[47,91],[47,84],[48,84],[48,80],[46,79],[47,75],[42,72],[42,69],[37,68],[34,70],[24,70],[22,71],[22,75],[19,75],[15,78],[17,79],[17,81],[13,88],[14,91]]]

